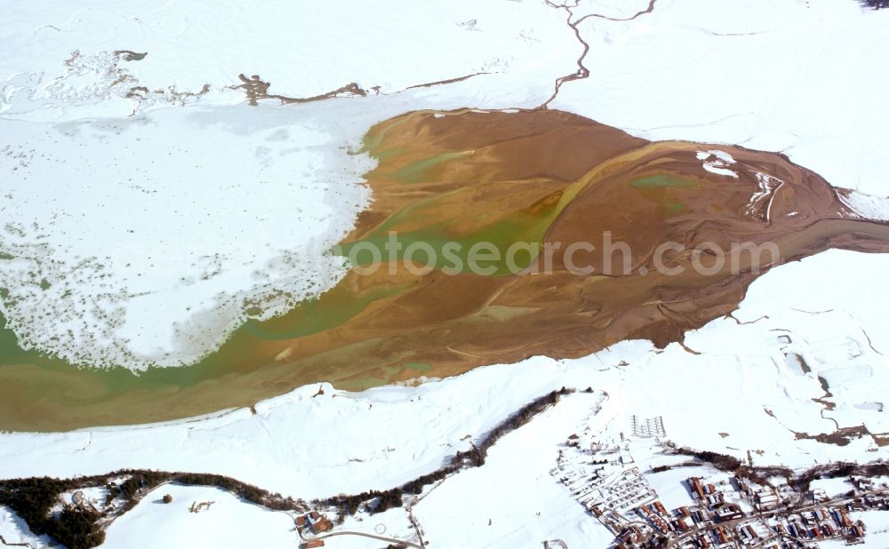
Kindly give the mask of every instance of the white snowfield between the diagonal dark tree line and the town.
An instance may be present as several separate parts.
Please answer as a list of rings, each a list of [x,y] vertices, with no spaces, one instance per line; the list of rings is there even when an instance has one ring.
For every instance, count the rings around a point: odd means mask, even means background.
[[[540,547],[553,539],[569,547],[607,546],[608,530],[549,474],[558,445],[586,426],[600,399],[598,394],[565,397],[503,437],[483,467],[445,481],[414,505],[429,546]]]

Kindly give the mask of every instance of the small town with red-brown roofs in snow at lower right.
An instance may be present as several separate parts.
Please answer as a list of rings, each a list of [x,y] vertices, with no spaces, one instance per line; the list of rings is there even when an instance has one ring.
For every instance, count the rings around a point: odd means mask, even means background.
[[[660,417],[632,416],[628,433],[612,440],[571,435],[551,473],[613,534],[617,549],[864,545],[867,528],[853,514],[889,510],[885,477],[831,479],[844,491],[830,494],[817,486],[801,492],[777,476],[726,473],[678,453]]]

